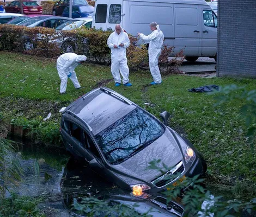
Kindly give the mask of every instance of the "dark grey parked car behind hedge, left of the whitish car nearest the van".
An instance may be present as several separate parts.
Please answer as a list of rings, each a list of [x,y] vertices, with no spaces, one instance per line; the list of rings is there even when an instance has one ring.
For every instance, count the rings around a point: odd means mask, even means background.
[[[71,20],[68,17],[58,17],[51,15],[41,15],[37,17],[30,18],[23,21],[19,25],[24,25],[26,27],[46,27],[46,28],[57,28],[59,25]]]

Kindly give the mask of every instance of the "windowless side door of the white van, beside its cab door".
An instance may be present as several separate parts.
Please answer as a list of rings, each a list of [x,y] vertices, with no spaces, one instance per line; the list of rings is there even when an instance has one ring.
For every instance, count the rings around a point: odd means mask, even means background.
[[[184,49],[184,55],[200,56],[202,23],[199,16],[196,4],[174,4],[174,53]]]

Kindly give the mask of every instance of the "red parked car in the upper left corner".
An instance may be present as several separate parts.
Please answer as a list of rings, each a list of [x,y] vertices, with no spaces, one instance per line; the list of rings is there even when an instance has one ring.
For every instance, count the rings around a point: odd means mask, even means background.
[[[42,14],[42,7],[35,1],[22,1],[23,14]],[[21,14],[20,1],[14,1],[5,6],[5,12]]]

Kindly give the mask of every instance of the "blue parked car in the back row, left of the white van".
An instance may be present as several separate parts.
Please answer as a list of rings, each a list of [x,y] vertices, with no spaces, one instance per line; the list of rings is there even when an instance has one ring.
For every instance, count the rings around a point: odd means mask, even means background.
[[[73,5],[72,18],[93,17],[94,7],[91,5]],[[69,17],[69,6],[66,7],[62,14],[63,17]]]

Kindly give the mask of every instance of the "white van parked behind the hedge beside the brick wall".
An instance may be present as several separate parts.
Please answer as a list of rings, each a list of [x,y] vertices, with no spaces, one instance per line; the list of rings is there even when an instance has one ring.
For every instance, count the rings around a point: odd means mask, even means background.
[[[93,27],[114,30],[120,24],[126,33],[151,33],[157,22],[164,43],[174,46],[173,56],[184,48],[186,60],[217,53],[217,16],[204,0],[96,0]]]

